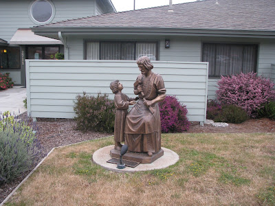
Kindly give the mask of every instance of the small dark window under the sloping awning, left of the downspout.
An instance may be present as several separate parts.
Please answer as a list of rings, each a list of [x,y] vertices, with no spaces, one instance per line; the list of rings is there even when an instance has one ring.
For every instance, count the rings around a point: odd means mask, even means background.
[[[54,59],[59,52],[59,46],[29,46],[27,47],[28,59]]]

